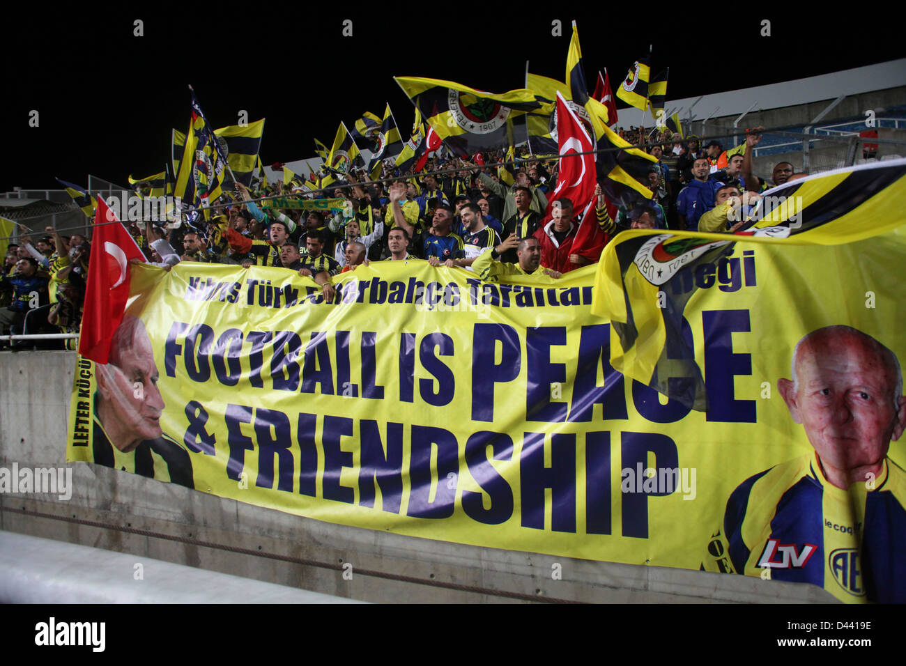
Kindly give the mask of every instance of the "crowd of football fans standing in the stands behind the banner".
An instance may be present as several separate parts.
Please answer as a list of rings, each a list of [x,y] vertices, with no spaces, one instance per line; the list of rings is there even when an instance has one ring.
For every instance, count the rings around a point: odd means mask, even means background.
[[[773,183],[755,176],[753,150],[746,150],[760,140],[754,132],[742,146],[725,150],[716,140],[702,146],[695,136],[682,139],[667,130],[617,131],[632,145],[645,145],[657,161],[647,174],[651,198],[639,196],[614,206],[600,184],[595,189],[596,200],[587,210],[594,211],[593,222],[605,243],[626,228],[734,231],[742,224],[737,221],[740,208],[753,206],[757,192],[800,176],[787,162],[776,165]],[[353,170],[314,191],[296,183],[253,181],[249,188],[236,184],[217,206],[178,227],[125,224],[150,263],[164,268],[180,261],[282,267],[311,277],[328,299],[334,295],[335,275],[376,261],[418,259],[474,270],[473,263],[488,253],[478,271],[483,277],[531,274],[538,268],[559,277],[596,261],[597,256],[571,251],[584,202],[549,201],[557,159],[520,158],[517,153],[516,161],[505,167],[484,166],[503,160],[503,151],[472,160],[448,154],[430,158],[416,174],[385,167],[381,180],[371,182],[363,171]],[[268,197],[344,201],[326,210],[281,209],[272,208]],[[77,332],[89,240],[61,236],[53,227],[46,227],[42,236],[22,234],[17,240],[9,245],[0,272],[0,333]],[[488,270],[489,263],[504,270]],[[10,343],[7,339],[0,345]],[[17,341],[11,346],[72,349],[74,342]]]

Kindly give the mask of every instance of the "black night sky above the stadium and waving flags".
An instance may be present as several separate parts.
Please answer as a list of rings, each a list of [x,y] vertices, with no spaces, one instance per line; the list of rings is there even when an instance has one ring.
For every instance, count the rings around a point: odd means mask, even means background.
[[[84,186],[89,173],[126,185],[130,173],[160,171],[170,128],[188,126],[188,83],[216,127],[236,124],[240,110],[250,121],[267,119],[265,164],[313,156],[313,137],[330,145],[339,121],[351,126],[363,111],[381,116],[385,102],[408,128],[412,105],[393,75],[506,92],[523,87],[529,60],[532,72],[562,80],[573,19],[590,86],[606,66],[615,87],[651,43],[652,73],[670,67],[668,105],[906,53],[896,22],[793,15],[782,5],[761,4],[751,15],[740,3],[687,10],[624,3],[613,13],[585,4],[571,13],[564,4],[320,5],[192,5],[213,17],[188,12],[188,3],[20,10],[5,20],[0,192],[59,188],[55,176]],[[133,36],[136,19],[144,36]],[[342,36],[344,19],[352,20],[352,37]],[[552,35],[554,19],[563,36]],[[770,37],[760,35],[764,19]],[[28,124],[32,110],[36,128]]]

